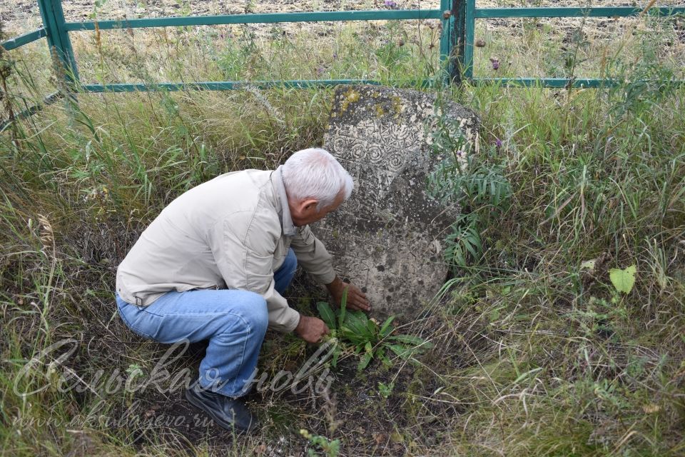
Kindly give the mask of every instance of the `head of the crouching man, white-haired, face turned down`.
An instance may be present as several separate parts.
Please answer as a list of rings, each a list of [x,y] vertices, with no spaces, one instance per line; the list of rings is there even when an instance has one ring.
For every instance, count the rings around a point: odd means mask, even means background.
[[[350,197],[354,182],[324,149],[303,149],[283,164],[283,184],[295,226],[322,219]]]

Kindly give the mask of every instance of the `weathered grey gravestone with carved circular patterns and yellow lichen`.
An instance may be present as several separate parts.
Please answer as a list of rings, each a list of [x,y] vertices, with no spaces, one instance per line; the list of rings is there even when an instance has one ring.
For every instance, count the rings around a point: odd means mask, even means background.
[[[374,314],[419,316],[447,278],[444,238],[458,214],[426,193],[439,159],[430,132],[435,96],[380,86],[338,86],[324,148],[355,180],[338,211],[313,226],[338,274],[367,293]],[[477,152],[479,120],[454,103],[447,116]]]

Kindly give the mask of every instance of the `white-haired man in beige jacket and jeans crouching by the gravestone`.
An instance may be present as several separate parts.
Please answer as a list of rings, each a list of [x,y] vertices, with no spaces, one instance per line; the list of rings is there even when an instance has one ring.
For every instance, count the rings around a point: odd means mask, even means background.
[[[323,149],[298,151],[275,171],[222,174],[172,201],[118,266],[116,302],[131,330],[160,343],[209,341],[186,398],[218,425],[257,426],[239,397],[267,327],[309,343],[329,333],[283,298],[298,263],[338,303],[347,288],[349,308],[370,310],[364,293],[335,275],[308,226],[338,208],[352,186]]]

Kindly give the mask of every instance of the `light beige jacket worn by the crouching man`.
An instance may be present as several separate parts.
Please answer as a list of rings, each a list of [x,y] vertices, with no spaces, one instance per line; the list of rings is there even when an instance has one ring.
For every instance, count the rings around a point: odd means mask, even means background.
[[[266,300],[270,328],[293,331],[300,315],[273,281],[288,248],[318,282],[333,282],[323,243],[309,226],[293,226],[280,167],[222,174],[172,201],[143,231],[118,267],[116,291],[137,306],[167,291],[253,291]]]

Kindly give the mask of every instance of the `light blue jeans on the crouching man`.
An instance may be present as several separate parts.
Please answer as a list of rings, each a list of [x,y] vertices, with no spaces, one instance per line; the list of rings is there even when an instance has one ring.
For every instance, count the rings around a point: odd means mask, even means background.
[[[273,274],[275,289],[284,293],[295,276],[297,258],[292,249]],[[200,363],[200,386],[225,396],[243,396],[254,374],[268,326],[264,298],[234,289],[170,291],[149,306],[123,301],[119,315],[138,335],[160,343],[209,340]]]

